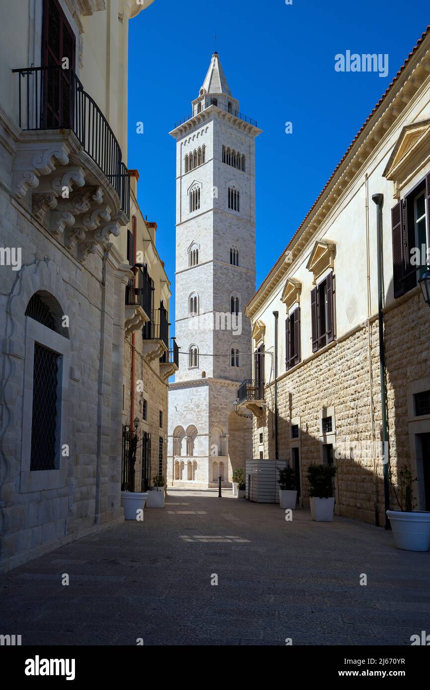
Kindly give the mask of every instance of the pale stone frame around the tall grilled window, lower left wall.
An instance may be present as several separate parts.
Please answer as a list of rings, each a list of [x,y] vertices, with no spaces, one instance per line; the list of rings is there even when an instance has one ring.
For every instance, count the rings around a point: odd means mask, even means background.
[[[70,380],[70,340],[43,324],[26,316],[23,415],[21,436],[21,476],[20,493],[61,489],[66,486],[69,457],[63,457],[61,448],[67,444],[68,433],[68,393]],[[57,469],[30,471],[31,430],[33,404],[33,361],[35,343],[55,351],[59,355],[59,440],[57,442]],[[70,447],[70,444],[69,444]]]

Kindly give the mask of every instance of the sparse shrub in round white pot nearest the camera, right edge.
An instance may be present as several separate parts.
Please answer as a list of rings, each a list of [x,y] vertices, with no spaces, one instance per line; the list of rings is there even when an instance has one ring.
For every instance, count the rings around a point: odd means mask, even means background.
[[[416,511],[413,500],[413,482],[411,470],[402,465],[397,473],[397,486],[393,482],[391,469],[389,481],[393,487],[398,510],[387,511],[393,530],[396,549],[404,551],[429,551],[430,546],[430,512]]]

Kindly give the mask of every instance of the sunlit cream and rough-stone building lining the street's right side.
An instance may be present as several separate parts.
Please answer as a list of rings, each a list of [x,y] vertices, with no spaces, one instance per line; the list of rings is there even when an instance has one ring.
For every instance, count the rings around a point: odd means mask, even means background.
[[[430,509],[429,204],[427,30],[246,306],[255,362],[237,395],[253,454],[293,466],[305,506],[322,462],[338,469],[338,515],[385,524],[403,465]]]

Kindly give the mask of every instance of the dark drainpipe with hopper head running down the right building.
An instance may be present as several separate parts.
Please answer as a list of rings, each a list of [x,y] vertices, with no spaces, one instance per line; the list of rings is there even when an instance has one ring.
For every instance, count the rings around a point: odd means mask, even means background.
[[[378,324],[379,324],[379,362],[381,380],[381,406],[382,406],[382,443],[384,448],[383,457],[386,460],[385,452],[389,449],[388,429],[387,429],[387,380],[385,377],[385,348],[384,348],[384,315],[382,314],[383,295],[382,295],[382,206],[384,204],[383,194],[374,194],[372,201],[376,204],[376,230],[378,237]],[[388,450],[389,453],[389,450]],[[387,511],[390,509],[390,487],[389,487],[389,456],[384,462],[384,502],[385,502],[385,529],[390,529],[390,521]]]

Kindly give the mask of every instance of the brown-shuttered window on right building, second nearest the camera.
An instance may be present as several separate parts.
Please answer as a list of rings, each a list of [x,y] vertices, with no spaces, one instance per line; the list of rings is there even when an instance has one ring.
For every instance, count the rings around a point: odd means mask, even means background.
[[[335,277],[329,275],[311,292],[312,351],[335,339]]]

